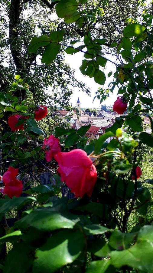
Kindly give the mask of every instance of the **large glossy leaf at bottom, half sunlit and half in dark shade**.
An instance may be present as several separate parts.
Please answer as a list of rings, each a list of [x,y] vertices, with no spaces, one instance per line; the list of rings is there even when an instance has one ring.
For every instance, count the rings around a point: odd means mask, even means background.
[[[60,231],[53,234],[36,251],[33,273],[52,273],[63,265],[72,263],[84,246],[84,237],[80,231]]]

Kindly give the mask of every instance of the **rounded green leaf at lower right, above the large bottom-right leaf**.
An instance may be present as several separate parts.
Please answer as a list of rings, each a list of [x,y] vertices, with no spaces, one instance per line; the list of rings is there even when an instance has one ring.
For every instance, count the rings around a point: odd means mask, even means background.
[[[113,231],[109,238],[109,245],[116,250],[123,250],[129,247],[134,240],[136,233],[122,233],[118,229]]]

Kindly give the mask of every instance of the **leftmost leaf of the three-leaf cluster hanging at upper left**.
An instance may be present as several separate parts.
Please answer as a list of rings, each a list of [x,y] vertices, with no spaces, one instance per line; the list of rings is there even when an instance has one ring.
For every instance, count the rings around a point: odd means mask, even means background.
[[[41,35],[40,37],[33,37],[31,44],[28,46],[28,51],[31,53],[37,53],[38,48],[46,46],[50,43],[50,39],[46,35]]]

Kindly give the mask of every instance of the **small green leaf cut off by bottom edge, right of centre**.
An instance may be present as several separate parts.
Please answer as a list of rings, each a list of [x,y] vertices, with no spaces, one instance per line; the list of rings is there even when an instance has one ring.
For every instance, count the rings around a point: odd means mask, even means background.
[[[110,259],[103,261],[93,261],[90,263],[86,273],[114,273],[115,268],[112,267]]]

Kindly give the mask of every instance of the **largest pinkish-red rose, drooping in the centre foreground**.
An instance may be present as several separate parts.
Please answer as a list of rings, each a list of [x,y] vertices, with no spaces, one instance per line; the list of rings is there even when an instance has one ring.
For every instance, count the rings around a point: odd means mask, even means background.
[[[58,172],[61,181],[70,187],[71,192],[76,197],[82,197],[84,194],[90,197],[97,180],[97,172],[87,153],[76,149],[66,153],[57,153],[54,158],[59,165]]]

